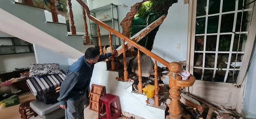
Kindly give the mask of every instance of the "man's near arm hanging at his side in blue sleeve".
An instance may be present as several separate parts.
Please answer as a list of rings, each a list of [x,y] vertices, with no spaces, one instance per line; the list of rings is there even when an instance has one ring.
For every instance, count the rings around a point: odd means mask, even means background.
[[[76,85],[78,81],[78,76],[79,73],[77,72],[69,72],[65,80],[62,82],[59,89],[59,98],[57,99],[58,101],[60,101],[60,105],[66,105],[67,96]]]

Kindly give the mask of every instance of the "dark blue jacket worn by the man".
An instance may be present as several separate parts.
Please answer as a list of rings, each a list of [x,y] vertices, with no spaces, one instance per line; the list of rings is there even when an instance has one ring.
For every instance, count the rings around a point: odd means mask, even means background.
[[[111,53],[100,55],[98,62],[111,57],[111,55]],[[65,105],[67,100],[77,100],[83,96],[90,85],[94,64],[90,66],[82,56],[69,67],[68,74],[60,86],[57,99],[61,105]]]

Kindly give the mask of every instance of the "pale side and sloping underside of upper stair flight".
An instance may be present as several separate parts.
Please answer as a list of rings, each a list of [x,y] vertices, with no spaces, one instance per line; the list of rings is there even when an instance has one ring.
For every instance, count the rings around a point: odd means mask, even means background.
[[[12,1],[0,1],[0,7],[0,31],[45,47],[67,58],[77,59],[83,55],[82,38],[80,41],[68,41],[67,39],[72,36],[67,36],[67,29],[64,32],[61,30],[66,28],[66,25],[47,25],[44,10],[16,5]],[[39,26],[42,26],[42,28],[39,28]],[[61,37],[57,39],[55,38],[57,36],[49,34],[61,34],[59,35]],[[76,45],[77,49],[74,48]]]

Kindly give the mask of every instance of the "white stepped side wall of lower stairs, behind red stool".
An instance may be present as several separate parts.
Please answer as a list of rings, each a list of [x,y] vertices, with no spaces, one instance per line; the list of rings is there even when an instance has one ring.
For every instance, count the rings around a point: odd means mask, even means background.
[[[116,80],[118,72],[106,70],[106,63],[95,64],[91,84],[106,86],[106,92],[116,95],[120,99],[121,110],[147,119],[163,119],[165,111],[146,106],[145,95],[132,93],[132,86],[122,89],[125,82]],[[91,86],[90,84],[90,86]]]

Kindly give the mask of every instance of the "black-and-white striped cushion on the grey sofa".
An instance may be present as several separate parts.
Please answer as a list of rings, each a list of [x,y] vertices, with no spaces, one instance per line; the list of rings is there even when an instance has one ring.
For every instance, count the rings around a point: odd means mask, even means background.
[[[41,78],[34,77],[27,80],[27,85],[34,96],[37,96],[38,94],[54,90],[56,87],[60,86],[65,77],[65,74],[48,75]]]

